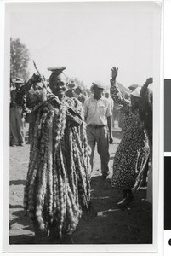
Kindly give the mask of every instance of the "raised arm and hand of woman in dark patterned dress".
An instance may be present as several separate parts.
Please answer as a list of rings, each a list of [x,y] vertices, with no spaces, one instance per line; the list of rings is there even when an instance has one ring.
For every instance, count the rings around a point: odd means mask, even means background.
[[[129,107],[130,102],[123,97],[121,91],[117,86],[117,83],[116,83],[117,73],[118,73],[118,67],[112,67],[111,68],[111,98],[118,105]]]

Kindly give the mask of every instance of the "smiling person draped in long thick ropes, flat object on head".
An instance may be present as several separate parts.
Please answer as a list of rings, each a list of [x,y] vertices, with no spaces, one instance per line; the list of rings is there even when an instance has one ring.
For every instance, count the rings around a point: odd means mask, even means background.
[[[71,234],[90,200],[83,107],[76,98],[65,96],[64,69],[48,69],[52,71],[52,93],[43,84],[42,90],[30,92],[33,112],[24,207],[33,222],[37,242],[58,242],[63,235]],[[37,87],[37,75],[33,78]]]

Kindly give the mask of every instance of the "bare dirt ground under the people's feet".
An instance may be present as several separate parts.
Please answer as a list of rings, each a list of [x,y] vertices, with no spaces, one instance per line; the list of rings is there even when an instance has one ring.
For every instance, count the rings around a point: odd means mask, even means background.
[[[125,210],[117,208],[122,193],[111,189],[112,162],[121,140],[121,131],[113,131],[110,145],[110,176],[104,181],[100,173],[100,157],[95,152],[91,179],[91,212],[84,213],[77,230],[64,237],[66,244],[150,244],[152,243],[152,207],[146,198],[146,188],[140,189],[135,201]],[[23,210],[23,192],[29,157],[29,144],[10,147],[9,244],[33,244],[31,221]]]

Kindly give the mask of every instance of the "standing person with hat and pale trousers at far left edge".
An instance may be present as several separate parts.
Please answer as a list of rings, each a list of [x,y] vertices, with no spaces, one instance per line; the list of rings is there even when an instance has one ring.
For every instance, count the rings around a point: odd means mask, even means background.
[[[26,95],[23,79],[15,79],[15,89],[10,91],[10,146],[25,144],[24,113],[26,111]]]

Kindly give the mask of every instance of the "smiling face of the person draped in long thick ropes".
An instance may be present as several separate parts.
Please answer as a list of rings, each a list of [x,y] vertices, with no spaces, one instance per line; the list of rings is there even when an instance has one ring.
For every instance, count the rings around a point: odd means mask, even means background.
[[[63,73],[60,73],[60,75],[53,74],[50,81],[50,89],[55,96],[58,96],[60,99],[63,98],[66,93],[66,76]]]

